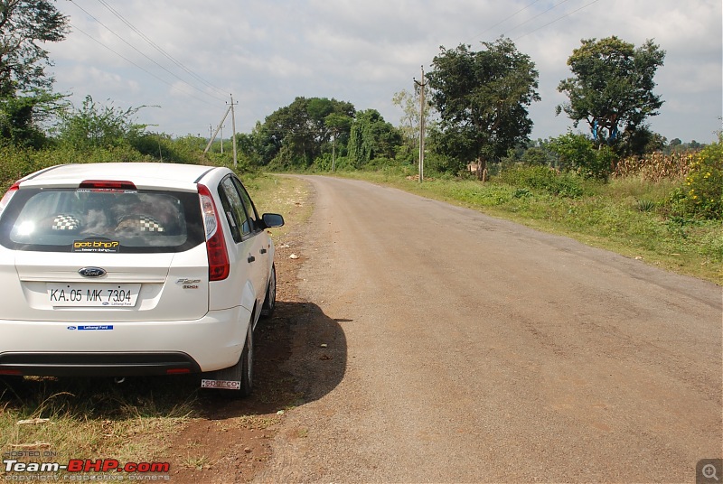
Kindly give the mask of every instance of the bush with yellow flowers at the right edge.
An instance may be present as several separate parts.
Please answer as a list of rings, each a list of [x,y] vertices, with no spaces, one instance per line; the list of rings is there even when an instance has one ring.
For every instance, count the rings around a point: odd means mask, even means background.
[[[703,219],[723,218],[723,135],[696,156],[685,177],[685,206]]]

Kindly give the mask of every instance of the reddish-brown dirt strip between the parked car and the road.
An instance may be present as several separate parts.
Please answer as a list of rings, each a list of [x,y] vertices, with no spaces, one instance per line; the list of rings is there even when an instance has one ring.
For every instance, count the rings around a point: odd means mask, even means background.
[[[256,331],[254,394],[229,401],[223,394],[202,396],[200,417],[169,436],[157,455],[171,463],[170,477],[178,483],[247,482],[271,455],[270,442],[286,411],[303,398],[296,379],[283,369],[293,346],[293,327],[315,317],[315,306],[299,297],[298,268],[302,240],[289,235],[275,240],[277,254],[277,309],[261,320]]]

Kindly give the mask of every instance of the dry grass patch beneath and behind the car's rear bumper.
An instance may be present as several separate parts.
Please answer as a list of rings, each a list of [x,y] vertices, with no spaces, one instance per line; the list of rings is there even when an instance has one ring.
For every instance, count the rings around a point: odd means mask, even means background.
[[[136,378],[132,386],[110,378],[2,379],[0,452],[39,452],[28,460],[61,463],[160,459],[159,442],[197,416],[196,402],[195,382],[185,377]],[[47,421],[22,423],[32,419]]]

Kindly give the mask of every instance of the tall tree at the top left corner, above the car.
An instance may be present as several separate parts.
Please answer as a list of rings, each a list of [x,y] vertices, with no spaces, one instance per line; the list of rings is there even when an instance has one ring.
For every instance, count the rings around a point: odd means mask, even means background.
[[[0,0],[0,137],[12,144],[37,145],[38,128],[61,96],[52,95],[52,65],[44,42],[60,42],[68,17],[50,0]]]

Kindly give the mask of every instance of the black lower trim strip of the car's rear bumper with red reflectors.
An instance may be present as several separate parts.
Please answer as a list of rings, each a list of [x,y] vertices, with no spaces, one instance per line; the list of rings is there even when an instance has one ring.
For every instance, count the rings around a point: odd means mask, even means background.
[[[198,363],[181,352],[0,354],[0,375],[137,377],[199,372]]]

